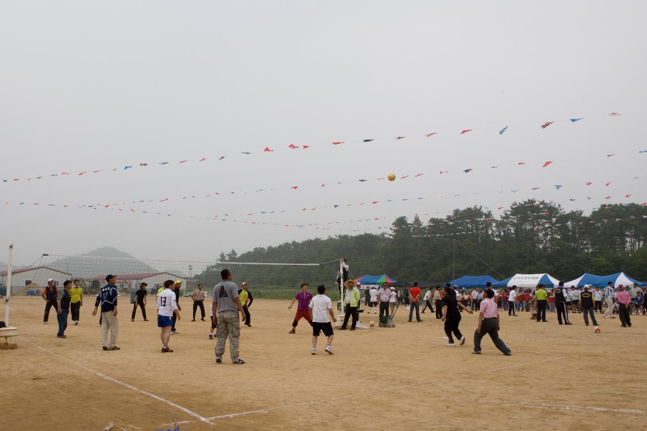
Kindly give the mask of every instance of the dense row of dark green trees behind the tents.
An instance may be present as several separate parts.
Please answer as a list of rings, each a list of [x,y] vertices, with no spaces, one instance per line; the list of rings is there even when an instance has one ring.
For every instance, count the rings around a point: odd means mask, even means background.
[[[647,206],[603,204],[585,216],[531,199],[513,203],[499,217],[480,206],[425,223],[418,216],[399,217],[388,234],[292,241],[240,255],[232,250],[222,252],[219,261],[323,263],[340,257],[348,260],[353,277],[446,282],[464,274],[501,280],[518,272],[548,272],[572,280],[584,272],[624,271],[647,280]],[[326,281],[334,280],[336,265],[322,271]]]

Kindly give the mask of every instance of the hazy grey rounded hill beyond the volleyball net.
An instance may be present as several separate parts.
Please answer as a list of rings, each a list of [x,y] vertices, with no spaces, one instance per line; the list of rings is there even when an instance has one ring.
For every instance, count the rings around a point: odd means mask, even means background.
[[[67,256],[60,259],[52,256],[50,259],[48,260],[47,256],[45,256],[41,265],[67,272],[79,278],[159,271],[145,261],[117,250],[115,247],[100,247],[76,256]]]

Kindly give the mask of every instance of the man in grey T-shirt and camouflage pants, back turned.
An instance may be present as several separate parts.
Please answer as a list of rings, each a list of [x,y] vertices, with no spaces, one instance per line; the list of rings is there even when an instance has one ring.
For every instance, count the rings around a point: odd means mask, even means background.
[[[218,338],[215,344],[215,363],[223,363],[223,353],[225,353],[225,341],[229,336],[229,353],[234,364],[245,364],[245,361],[238,357],[238,347],[241,335],[240,318],[245,316],[243,305],[238,298],[238,286],[232,282],[232,273],[228,269],[220,272],[223,282],[214,287],[214,296],[212,311],[214,323],[217,322],[218,329],[216,335]]]

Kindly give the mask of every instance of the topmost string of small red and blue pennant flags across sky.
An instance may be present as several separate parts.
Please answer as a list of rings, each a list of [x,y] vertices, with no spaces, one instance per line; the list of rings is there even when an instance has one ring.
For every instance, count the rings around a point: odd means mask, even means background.
[[[642,115],[644,113],[645,112],[637,112],[637,113],[628,113],[628,114],[624,114],[624,115]],[[614,117],[614,116],[620,116],[620,114],[612,112],[612,113],[609,113],[608,115],[598,115],[598,116],[581,117],[581,118],[567,118],[567,119],[564,119],[564,120],[554,120],[554,121],[543,122],[543,123],[539,123],[539,124],[540,124],[540,127],[542,129],[545,129],[545,128],[551,126],[551,124],[554,124],[555,122],[571,122],[571,123],[575,123],[575,122],[578,122],[580,120],[593,120],[593,119],[604,118],[604,117],[608,117],[608,116]],[[496,129],[498,130],[499,135],[503,135],[509,129],[509,127],[527,126],[527,125],[532,125],[532,124],[538,124],[538,123],[514,124],[514,125],[505,126],[502,129],[499,129],[498,127],[496,127]],[[478,129],[489,129],[489,128],[490,127],[479,127]],[[494,127],[492,127],[492,129],[494,129]],[[331,142],[331,144],[333,144],[333,146],[342,146],[342,144],[356,144],[356,143],[366,144],[366,143],[369,143],[369,142],[373,142],[375,140],[393,140],[393,139],[402,140],[404,138],[410,138],[410,137],[427,137],[427,138],[430,138],[430,137],[434,137],[435,135],[452,134],[452,133],[458,133],[459,135],[465,135],[465,133],[468,133],[468,132],[474,131],[474,130],[477,130],[477,128],[474,128],[474,129],[461,129],[460,131],[459,130],[433,131],[433,132],[430,132],[430,133],[424,133],[424,135],[402,135],[402,136],[391,137],[391,138],[365,138],[365,139],[362,139],[362,140],[333,141],[333,142]],[[27,178],[25,178],[25,177],[6,178],[5,177],[5,179],[2,179],[2,182],[3,182],[3,184],[8,184],[8,183],[17,182],[17,181],[32,181],[32,180],[40,180],[40,179],[54,178],[54,177],[67,177],[67,176],[70,176],[70,177],[84,177],[84,176],[87,176],[87,175],[94,175],[94,174],[105,173],[105,172],[109,172],[109,171],[111,171],[111,172],[121,172],[121,171],[131,170],[131,169],[134,169],[134,168],[150,168],[151,166],[166,166],[168,164],[190,164],[191,162],[205,162],[207,160],[210,160],[210,161],[211,160],[224,160],[224,159],[226,159],[228,157],[229,158],[232,158],[232,157],[245,157],[245,156],[248,156],[248,155],[254,155],[254,154],[258,154],[258,153],[274,153],[275,151],[281,151],[281,150],[282,151],[292,151],[292,150],[296,150],[296,149],[303,150],[303,149],[322,148],[322,147],[323,147],[323,144],[317,144],[317,145],[288,144],[287,146],[285,146],[283,148],[274,148],[274,149],[272,149],[272,148],[269,148],[269,147],[265,147],[262,150],[239,151],[237,153],[219,155],[219,156],[195,157],[195,158],[191,158],[191,159],[176,160],[175,162],[170,162],[170,161],[138,162],[138,163],[135,163],[135,164],[123,164],[120,167],[113,167],[113,168],[88,169],[88,170],[81,170],[81,171],[65,170],[65,171],[62,171],[60,173],[49,173],[49,174],[37,175],[37,176],[34,176],[34,177],[27,177]],[[642,150],[641,152],[647,152],[647,150]],[[544,167],[545,167],[548,164],[551,164],[551,161],[544,162],[544,163],[545,163],[545,165],[544,165]],[[472,168],[466,168],[463,171],[465,171],[467,173],[467,172],[470,172],[472,170],[473,170]],[[447,172],[448,171],[441,171],[441,173],[447,173]],[[298,186],[295,186],[295,188],[296,187],[298,187]]]

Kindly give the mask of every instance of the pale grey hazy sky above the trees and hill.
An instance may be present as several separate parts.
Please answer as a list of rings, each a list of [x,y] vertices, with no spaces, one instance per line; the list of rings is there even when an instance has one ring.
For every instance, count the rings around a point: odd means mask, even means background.
[[[8,243],[23,264],[105,245],[212,260],[472,204],[647,201],[645,16],[642,1],[3,1],[0,178],[21,181],[0,184],[0,261]],[[375,181],[389,172],[411,176]]]

